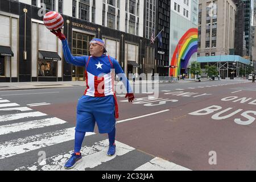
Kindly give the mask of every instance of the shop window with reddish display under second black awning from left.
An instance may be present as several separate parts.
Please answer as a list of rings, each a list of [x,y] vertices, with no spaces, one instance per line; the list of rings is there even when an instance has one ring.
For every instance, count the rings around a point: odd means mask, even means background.
[[[38,60],[38,76],[56,77],[56,61]]]

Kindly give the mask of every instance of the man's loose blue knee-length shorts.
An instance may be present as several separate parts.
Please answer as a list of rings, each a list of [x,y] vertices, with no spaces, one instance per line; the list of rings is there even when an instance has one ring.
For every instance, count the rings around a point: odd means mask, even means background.
[[[93,132],[95,123],[100,134],[110,133],[115,127],[114,96],[82,96],[77,104],[76,131]]]

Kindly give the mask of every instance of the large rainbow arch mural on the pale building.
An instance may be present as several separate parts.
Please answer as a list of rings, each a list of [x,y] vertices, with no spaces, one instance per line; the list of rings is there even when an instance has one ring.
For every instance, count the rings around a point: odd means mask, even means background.
[[[197,39],[198,39],[198,29],[191,28],[189,29],[180,39],[175,52],[172,56],[170,65],[176,66],[176,68],[170,68],[169,76],[173,75],[177,77],[180,75],[180,69],[187,69],[189,59],[193,53],[197,52]],[[177,52],[179,47],[179,58],[177,58]],[[183,61],[181,61],[183,60]]]

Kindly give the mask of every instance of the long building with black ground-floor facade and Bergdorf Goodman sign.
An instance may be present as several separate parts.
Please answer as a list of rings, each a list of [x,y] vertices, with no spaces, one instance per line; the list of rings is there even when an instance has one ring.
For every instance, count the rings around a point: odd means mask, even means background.
[[[75,56],[89,55],[90,40],[102,38],[127,75],[142,73],[143,60],[154,61],[146,56],[144,1],[1,0],[0,81],[84,80],[84,68],[66,63],[60,40],[44,27],[48,11],[62,13]]]

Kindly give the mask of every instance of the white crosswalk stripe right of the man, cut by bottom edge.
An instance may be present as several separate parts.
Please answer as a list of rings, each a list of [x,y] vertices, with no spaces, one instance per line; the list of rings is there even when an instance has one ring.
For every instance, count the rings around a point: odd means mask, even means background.
[[[161,158],[154,158],[150,162],[143,164],[134,171],[191,171],[191,169],[168,162]]]

